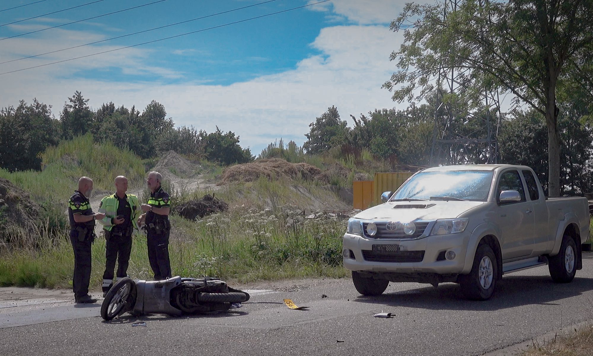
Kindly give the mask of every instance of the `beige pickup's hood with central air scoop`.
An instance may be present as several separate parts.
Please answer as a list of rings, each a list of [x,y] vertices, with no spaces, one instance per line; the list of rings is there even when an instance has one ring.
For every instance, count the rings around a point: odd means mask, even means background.
[[[417,219],[453,219],[463,214],[463,212],[482,204],[484,202],[474,201],[387,202],[361,211],[354,215],[354,218],[400,222],[414,221]]]

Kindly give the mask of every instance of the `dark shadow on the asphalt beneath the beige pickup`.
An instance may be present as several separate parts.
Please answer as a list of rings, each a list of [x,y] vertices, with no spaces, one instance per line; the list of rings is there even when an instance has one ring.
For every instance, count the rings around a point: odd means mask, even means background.
[[[575,278],[568,284],[557,284],[549,276],[505,276],[502,281],[498,281],[495,294],[487,301],[465,299],[460,286],[452,283],[441,284],[438,288],[416,288],[376,297],[361,295],[355,301],[434,310],[499,310],[527,304],[558,305],[559,300],[591,290],[591,278]]]

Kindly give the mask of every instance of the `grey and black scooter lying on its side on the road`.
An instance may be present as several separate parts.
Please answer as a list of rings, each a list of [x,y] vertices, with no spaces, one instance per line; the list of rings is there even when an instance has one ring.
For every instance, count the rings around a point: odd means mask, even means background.
[[[231,309],[234,303],[249,300],[249,294],[228,287],[216,278],[181,278],[162,281],[133,281],[122,278],[111,287],[101,304],[101,317],[111,320],[123,313],[199,314]]]

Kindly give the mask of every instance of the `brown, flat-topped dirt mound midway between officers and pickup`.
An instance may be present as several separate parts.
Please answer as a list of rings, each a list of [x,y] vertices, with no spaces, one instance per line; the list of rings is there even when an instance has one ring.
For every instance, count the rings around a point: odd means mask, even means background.
[[[231,182],[253,182],[262,176],[270,180],[281,178],[313,180],[319,174],[321,170],[311,164],[295,164],[280,158],[270,158],[228,167],[224,170],[219,185]]]

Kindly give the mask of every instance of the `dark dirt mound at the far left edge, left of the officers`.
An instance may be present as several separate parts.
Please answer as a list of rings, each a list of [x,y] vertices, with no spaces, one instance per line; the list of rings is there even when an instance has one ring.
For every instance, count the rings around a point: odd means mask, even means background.
[[[33,234],[40,222],[40,210],[29,193],[0,178],[0,241],[7,241],[18,228]]]

